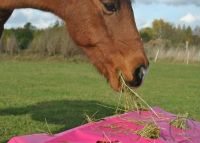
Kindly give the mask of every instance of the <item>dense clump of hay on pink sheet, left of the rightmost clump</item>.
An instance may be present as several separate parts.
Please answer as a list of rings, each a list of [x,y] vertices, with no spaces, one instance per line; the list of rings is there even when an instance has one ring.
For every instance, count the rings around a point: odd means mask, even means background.
[[[160,132],[160,128],[155,123],[148,123],[143,129],[136,131],[136,134],[144,138],[158,139]]]

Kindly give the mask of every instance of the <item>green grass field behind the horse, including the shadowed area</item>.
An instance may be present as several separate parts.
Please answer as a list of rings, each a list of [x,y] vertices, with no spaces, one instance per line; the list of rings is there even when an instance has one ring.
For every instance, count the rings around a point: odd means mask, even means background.
[[[200,65],[151,64],[138,92],[152,106],[189,112],[200,121]],[[113,114],[118,94],[87,63],[0,61],[0,142],[13,136],[58,133]]]

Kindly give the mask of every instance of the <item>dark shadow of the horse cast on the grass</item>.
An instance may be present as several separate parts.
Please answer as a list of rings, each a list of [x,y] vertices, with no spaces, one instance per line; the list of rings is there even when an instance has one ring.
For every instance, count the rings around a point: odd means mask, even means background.
[[[97,101],[49,101],[21,108],[3,109],[0,110],[0,116],[30,114],[35,121],[45,122],[46,119],[48,124],[64,125],[63,130],[66,130],[86,123],[84,114],[92,116],[96,113],[96,119],[113,115],[114,109],[102,107],[100,104],[102,103]]]

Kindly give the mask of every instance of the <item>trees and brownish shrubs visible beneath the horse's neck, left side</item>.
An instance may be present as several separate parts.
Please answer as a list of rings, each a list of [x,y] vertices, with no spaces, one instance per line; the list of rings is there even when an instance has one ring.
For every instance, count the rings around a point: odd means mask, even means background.
[[[26,23],[22,28],[5,29],[0,42],[0,53],[63,55],[70,58],[82,55],[83,52],[70,39],[64,23],[56,21],[46,29],[37,29],[31,23]]]

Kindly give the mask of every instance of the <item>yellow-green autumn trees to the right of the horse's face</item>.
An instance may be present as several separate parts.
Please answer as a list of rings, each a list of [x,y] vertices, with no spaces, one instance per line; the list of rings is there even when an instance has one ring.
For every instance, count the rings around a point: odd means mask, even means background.
[[[174,26],[163,19],[157,19],[152,22],[152,27],[141,29],[140,34],[145,43],[162,39],[162,42],[168,43],[169,48],[184,47],[186,42],[192,46],[200,46],[199,26],[192,29],[190,26]]]

